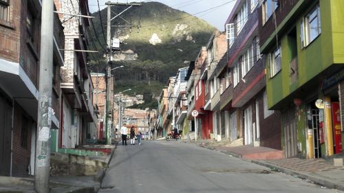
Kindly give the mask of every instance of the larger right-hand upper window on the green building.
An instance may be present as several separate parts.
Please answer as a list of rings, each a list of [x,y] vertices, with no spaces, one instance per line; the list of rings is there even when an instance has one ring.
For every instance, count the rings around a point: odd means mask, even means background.
[[[309,45],[321,34],[319,4],[301,21],[301,46]]]

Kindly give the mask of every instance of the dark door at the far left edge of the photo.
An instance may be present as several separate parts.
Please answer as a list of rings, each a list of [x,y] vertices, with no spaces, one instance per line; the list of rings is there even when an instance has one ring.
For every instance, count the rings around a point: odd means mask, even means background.
[[[12,106],[0,93],[0,176],[11,174]]]

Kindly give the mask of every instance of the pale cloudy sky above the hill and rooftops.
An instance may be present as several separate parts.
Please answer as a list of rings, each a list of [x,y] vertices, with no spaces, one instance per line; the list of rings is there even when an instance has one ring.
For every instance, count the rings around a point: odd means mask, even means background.
[[[100,10],[106,8],[105,2],[109,0],[98,0]],[[133,0],[134,1],[134,0]],[[138,2],[137,0],[136,2]],[[182,10],[189,14],[204,19],[218,30],[224,31],[224,23],[226,22],[230,12],[235,5],[236,0],[154,0],[169,5],[176,10]],[[127,0],[111,0],[111,2],[127,3]],[[143,1],[142,1],[143,2]],[[144,1],[147,2],[147,1]],[[97,0],[89,0],[89,11],[98,11]],[[202,13],[199,13],[202,12]],[[197,14],[199,13],[199,14]]]

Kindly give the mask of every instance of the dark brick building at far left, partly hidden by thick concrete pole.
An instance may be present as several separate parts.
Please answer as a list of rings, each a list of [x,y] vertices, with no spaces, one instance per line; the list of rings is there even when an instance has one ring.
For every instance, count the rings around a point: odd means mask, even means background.
[[[56,5],[57,6],[57,5]],[[40,1],[0,4],[0,175],[34,174],[41,46]],[[60,128],[63,27],[54,16],[52,128]],[[54,133],[54,132],[53,132]],[[54,137],[54,136],[52,136]]]

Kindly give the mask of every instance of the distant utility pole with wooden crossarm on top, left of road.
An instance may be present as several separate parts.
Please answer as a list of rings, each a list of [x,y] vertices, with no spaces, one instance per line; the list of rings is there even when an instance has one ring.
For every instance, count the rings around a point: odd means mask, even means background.
[[[106,94],[106,103],[105,103],[105,138],[108,145],[111,145],[111,137],[110,137],[110,128],[109,128],[109,98],[110,98],[110,77],[111,77],[111,5],[125,5],[125,6],[137,6],[141,5],[141,3],[111,3],[111,1],[107,1],[105,3],[107,5],[107,94]],[[127,8],[128,10],[129,8]],[[123,11],[124,12],[124,11]],[[120,13],[122,14],[122,12]],[[115,19],[120,14],[117,14],[113,19]],[[120,126],[120,125],[119,125]]]

